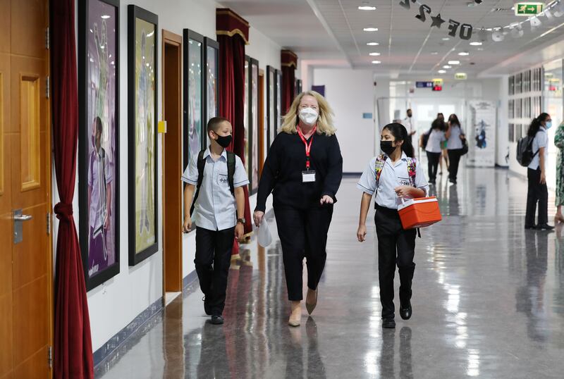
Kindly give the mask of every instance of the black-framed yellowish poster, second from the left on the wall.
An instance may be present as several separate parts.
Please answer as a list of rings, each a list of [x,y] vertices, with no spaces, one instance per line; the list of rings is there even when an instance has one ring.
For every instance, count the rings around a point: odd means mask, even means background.
[[[129,264],[156,253],[157,217],[157,46],[159,18],[128,6],[128,219]]]

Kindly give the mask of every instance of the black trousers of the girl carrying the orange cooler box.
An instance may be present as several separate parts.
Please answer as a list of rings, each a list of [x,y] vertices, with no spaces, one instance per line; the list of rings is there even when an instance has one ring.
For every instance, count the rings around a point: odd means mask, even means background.
[[[396,265],[400,274],[400,302],[409,302],[415,271],[415,229],[404,230],[396,209],[376,206],[376,235],[378,236],[378,275],[382,318],[393,318],[393,278]]]

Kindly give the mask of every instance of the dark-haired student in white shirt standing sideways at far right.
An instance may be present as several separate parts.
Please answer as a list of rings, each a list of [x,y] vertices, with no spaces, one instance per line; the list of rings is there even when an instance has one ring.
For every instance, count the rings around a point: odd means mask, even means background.
[[[551,116],[541,113],[529,126],[527,135],[533,137],[532,151],[534,154],[527,169],[529,190],[527,191],[527,213],[525,215],[525,229],[553,230],[548,225],[548,188],[546,187],[546,163],[548,161],[548,135],[546,130],[552,126]],[[539,223],[534,224],[534,213],[539,203]]]

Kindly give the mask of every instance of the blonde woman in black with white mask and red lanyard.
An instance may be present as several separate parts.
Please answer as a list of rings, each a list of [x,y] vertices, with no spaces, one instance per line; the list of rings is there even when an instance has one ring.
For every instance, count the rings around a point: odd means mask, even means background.
[[[272,192],[292,310],[288,321],[291,326],[300,325],[302,315],[304,258],[308,313],[317,305],[317,285],[327,256],[327,232],[343,177],[343,157],[332,116],[321,94],[299,94],[272,142],[259,182],[253,218],[257,226],[263,222],[266,198]]]

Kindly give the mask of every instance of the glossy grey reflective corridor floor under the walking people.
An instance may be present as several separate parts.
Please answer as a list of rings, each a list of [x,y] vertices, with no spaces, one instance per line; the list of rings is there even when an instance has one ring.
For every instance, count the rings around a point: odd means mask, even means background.
[[[526,187],[494,169],[441,183],[445,217],[417,240],[414,316],[382,330],[374,225],[355,241],[360,193],[345,180],[319,305],[300,328],[286,325],[279,243],[253,241],[231,267],[223,327],[192,285],[97,377],[563,378],[564,232],[523,230]]]

